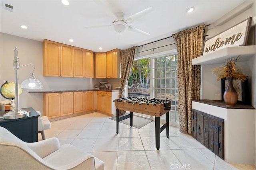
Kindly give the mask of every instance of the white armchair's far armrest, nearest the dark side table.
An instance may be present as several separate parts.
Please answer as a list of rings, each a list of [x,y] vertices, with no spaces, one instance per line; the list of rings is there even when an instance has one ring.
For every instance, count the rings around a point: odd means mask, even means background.
[[[38,156],[44,158],[45,156],[60,149],[59,139],[56,137],[49,138],[35,143],[26,143]]]

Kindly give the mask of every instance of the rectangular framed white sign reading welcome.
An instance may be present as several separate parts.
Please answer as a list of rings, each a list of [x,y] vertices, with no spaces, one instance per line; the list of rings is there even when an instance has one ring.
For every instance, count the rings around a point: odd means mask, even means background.
[[[252,18],[248,18],[204,43],[203,55],[226,47],[246,45]]]

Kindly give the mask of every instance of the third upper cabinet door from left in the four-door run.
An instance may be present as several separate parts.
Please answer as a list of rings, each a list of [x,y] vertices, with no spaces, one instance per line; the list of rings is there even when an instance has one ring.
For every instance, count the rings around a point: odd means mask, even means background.
[[[84,49],[73,47],[74,77],[84,77]]]

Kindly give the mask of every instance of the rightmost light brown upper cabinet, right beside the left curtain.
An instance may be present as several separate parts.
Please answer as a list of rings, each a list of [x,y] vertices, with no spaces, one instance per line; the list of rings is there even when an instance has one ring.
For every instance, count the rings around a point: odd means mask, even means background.
[[[120,49],[107,52],[107,78],[120,78]]]

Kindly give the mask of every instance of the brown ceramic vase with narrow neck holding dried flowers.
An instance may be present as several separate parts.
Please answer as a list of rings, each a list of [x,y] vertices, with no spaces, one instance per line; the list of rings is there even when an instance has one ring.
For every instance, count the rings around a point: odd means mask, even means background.
[[[228,86],[223,94],[223,99],[226,106],[236,106],[238,95],[233,87],[233,77],[228,77]]]

